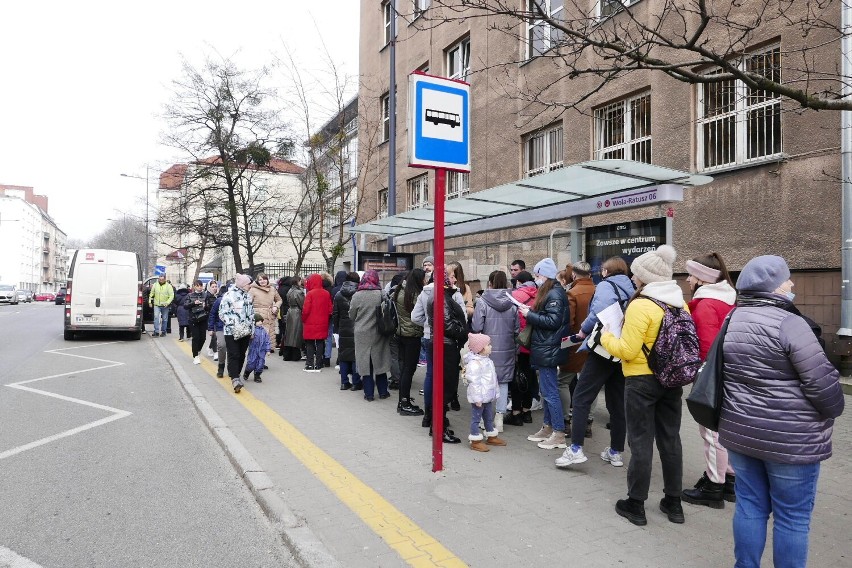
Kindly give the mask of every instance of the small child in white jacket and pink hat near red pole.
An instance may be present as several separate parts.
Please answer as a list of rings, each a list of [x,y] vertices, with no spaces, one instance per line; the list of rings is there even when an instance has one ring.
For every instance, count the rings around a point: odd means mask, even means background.
[[[464,356],[464,384],[470,403],[470,449],[487,452],[488,446],[505,446],[497,437],[494,427],[494,401],[500,396],[497,371],[491,355],[491,338],[482,333],[471,333],[467,339],[468,352]],[[485,442],[479,431],[479,421],[485,423]]]

